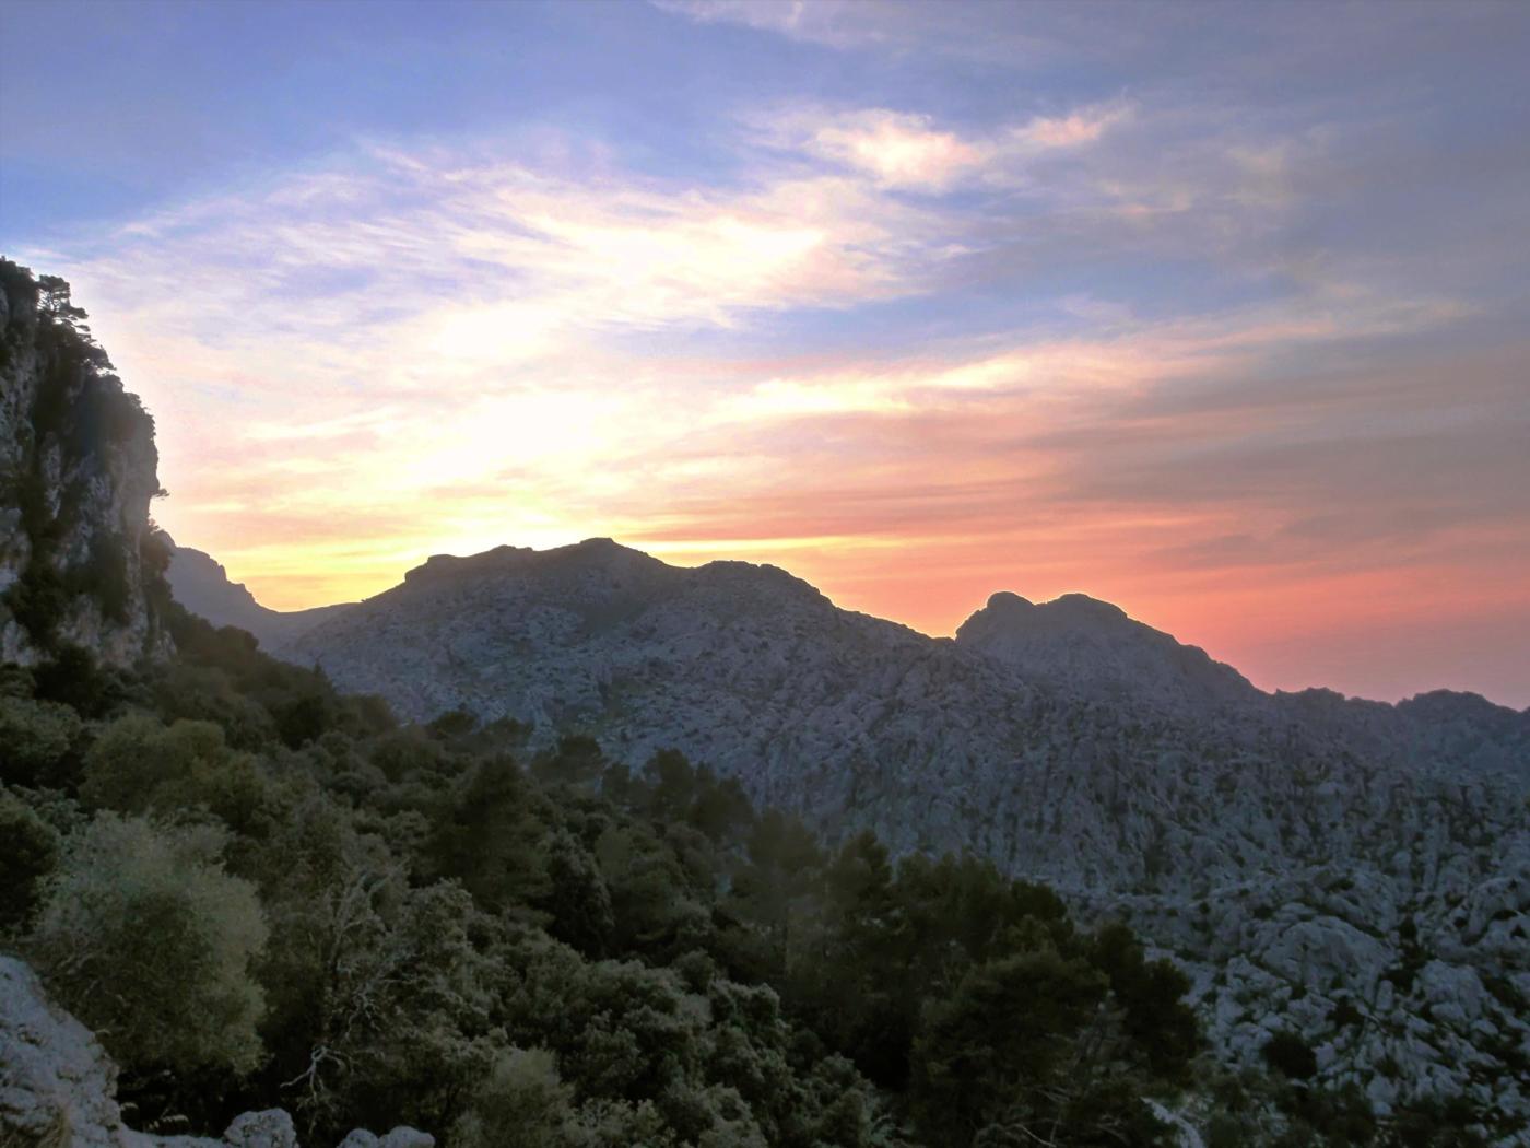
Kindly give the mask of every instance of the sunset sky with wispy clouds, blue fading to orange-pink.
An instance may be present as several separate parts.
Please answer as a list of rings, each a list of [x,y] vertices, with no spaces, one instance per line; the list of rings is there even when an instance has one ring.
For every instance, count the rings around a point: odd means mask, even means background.
[[[0,3],[0,253],[266,605],[609,536],[1530,706],[1530,6]]]

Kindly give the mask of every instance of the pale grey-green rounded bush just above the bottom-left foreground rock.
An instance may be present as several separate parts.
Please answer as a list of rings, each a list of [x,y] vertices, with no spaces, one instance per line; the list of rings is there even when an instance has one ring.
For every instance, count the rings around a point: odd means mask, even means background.
[[[98,814],[64,842],[24,952],[49,990],[130,1070],[249,1071],[260,1061],[266,940],[254,888],[219,834]]]

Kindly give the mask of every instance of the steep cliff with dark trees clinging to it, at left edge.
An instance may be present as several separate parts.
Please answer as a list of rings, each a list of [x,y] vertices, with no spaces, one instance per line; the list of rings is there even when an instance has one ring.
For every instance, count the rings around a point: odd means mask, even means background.
[[[125,666],[162,644],[155,424],[61,280],[0,260],[0,663],[64,644]]]

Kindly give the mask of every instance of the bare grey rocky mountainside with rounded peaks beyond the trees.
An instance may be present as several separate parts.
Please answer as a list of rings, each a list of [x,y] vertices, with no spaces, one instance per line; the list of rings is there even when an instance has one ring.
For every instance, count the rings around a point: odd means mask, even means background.
[[[1131,914],[1233,1061],[1290,1030],[1382,1111],[1530,1113],[1530,713],[1265,695],[1086,598],[933,640],[609,540],[435,557],[282,651],[410,716],[675,745],[829,836],[984,853]]]

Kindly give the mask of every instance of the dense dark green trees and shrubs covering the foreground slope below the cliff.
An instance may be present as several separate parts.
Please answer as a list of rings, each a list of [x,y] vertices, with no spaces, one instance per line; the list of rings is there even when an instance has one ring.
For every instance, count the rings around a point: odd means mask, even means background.
[[[171,614],[174,611],[171,609]],[[676,753],[399,726],[188,615],[0,684],[0,920],[164,1128],[1155,1143],[1184,980],[1048,889],[826,851]],[[182,1124],[184,1122],[184,1124]]]

